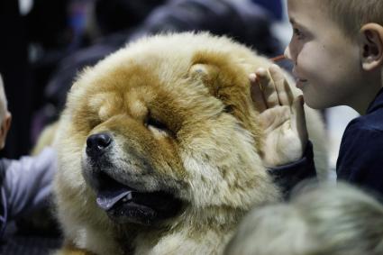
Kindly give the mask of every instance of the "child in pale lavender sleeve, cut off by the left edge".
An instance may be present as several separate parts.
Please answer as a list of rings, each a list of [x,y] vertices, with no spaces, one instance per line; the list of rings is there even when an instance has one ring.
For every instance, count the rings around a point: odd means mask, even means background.
[[[0,76],[0,150],[5,146],[6,134],[11,126],[11,114]],[[0,239],[5,224],[37,209],[50,196],[50,183],[56,170],[56,153],[47,148],[36,157],[19,160],[0,159]]]

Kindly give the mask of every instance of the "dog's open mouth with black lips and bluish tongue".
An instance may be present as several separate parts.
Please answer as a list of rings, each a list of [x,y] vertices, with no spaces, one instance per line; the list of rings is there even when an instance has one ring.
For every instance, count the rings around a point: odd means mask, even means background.
[[[110,178],[98,177],[97,205],[117,223],[152,225],[178,214],[181,201],[169,193],[143,193]]]

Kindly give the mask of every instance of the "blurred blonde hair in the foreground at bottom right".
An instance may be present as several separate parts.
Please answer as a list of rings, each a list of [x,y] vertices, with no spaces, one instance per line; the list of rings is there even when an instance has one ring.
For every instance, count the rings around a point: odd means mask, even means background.
[[[383,205],[345,184],[305,188],[288,204],[254,208],[224,254],[383,254]]]

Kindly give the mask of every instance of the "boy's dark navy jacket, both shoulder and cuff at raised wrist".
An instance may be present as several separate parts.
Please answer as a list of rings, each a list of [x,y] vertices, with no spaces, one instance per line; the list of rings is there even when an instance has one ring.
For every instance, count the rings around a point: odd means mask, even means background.
[[[352,120],[343,133],[336,163],[337,180],[347,181],[383,198],[382,148],[383,89],[380,89],[366,115]],[[285,196],[299,180],[313,176],[315,165],[312,154],[312,147],[308,147],[303,159],[269,170]]]

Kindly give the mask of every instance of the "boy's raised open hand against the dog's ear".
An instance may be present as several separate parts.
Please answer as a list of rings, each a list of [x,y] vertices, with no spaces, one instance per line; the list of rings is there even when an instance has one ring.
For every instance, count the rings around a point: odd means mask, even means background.
[[[272,65],[250,75],[251,98],[265,132],[261,158],[273,168],[301,159],[307,143],[303,96],[293,96],[281,69]]]

